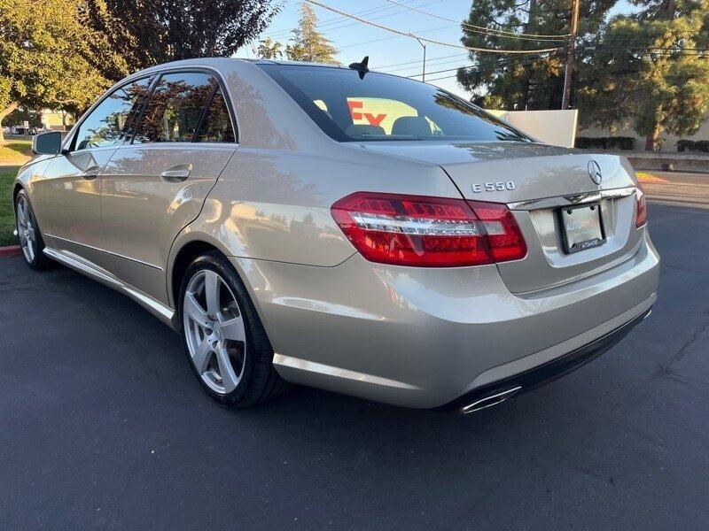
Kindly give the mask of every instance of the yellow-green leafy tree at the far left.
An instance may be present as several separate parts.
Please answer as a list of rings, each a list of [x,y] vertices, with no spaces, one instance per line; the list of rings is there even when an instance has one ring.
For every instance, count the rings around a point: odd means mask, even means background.
[[[78,7],[78,0],[0,0],[0,125],[19,105],[78,112],[108,86],[83,58],[89,35]]]

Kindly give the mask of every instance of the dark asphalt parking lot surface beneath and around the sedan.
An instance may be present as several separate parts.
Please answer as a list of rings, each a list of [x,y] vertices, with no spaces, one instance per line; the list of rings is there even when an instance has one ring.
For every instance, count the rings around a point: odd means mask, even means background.
[[[0,529],[705,529],[709,211],[650,215],[651,317],[465,417],[305,388],[223,410],[128,298],[2,259]]]

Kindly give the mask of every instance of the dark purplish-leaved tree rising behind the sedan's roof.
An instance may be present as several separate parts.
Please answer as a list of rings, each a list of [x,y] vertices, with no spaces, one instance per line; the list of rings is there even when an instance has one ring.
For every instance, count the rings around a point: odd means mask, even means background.
[[[253,41],[280,10],[270,0],[84,0],[82,23],[97,38],[90,43],[104,75],[118,80],[177,59],[229,57]],[[102,58],[121,53],[125,68]],[[90,59],[89,56],[87,58]]]

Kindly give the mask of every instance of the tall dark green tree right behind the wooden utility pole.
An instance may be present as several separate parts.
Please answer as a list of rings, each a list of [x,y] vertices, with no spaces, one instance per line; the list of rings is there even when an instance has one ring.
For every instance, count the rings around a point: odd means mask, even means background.
[[[579,35],[594,35],[616,0],[581,2]],[[566,35],[573,0],[476,0],[464,21],[466,46],[494,50],[556,52],[505,55],[471,52],[472,65],[458,70],[457,79],[473,100],[508,110],[558,109],[564,86],[565,38],[526,35]],[[494,28],[486,31],[479,28]],[[510,35],[511,34],[511,35]],[[486,99],[487,96],[487,99]]]

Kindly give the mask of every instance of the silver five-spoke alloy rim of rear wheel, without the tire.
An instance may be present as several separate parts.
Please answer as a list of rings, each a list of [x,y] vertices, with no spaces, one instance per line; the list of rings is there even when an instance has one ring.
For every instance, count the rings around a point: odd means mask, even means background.
[[[183,329],[202,381],[225,395],[237,389],[244,373],[244,319],[229,285],[211,269],[190,279],[183,299]]]

